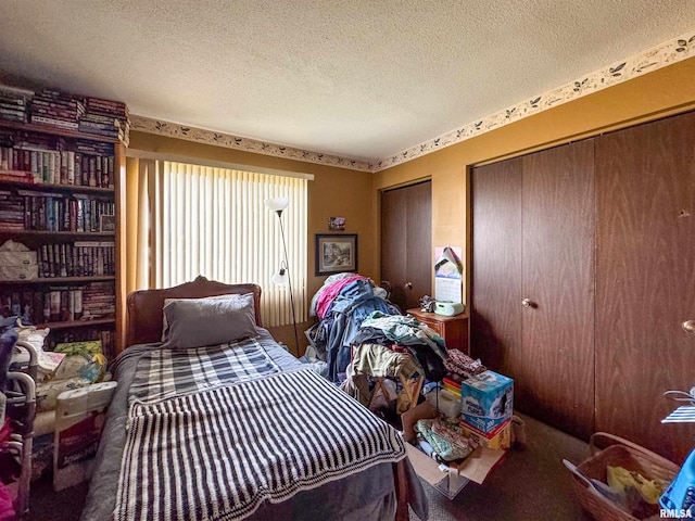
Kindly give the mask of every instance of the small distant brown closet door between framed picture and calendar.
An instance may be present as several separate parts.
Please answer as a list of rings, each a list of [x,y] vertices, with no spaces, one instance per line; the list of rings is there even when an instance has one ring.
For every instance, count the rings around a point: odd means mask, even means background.
[[[403,312],[432,294],[432,183],[381,192],[381,280]]]

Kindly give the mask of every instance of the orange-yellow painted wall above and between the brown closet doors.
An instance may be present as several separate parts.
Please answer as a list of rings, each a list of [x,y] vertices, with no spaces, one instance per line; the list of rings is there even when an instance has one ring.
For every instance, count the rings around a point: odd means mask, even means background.
[[[431,178],[432,245],[464,246],[469,280],[468,174],[472,165],[694,109],[693,78],[695,59],[688,59],[379,171],[374,177],[375,223],[379,221],[380,190]],[[378,250],[375,252],[379,254]],[[467,296],[465,301],[468,302]]]

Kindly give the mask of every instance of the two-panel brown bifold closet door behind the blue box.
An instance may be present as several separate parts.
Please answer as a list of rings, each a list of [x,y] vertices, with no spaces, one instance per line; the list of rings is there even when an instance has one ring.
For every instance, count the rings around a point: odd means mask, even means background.
[[[594,428],[594,147],[472,170],[471,352],[514,378],[515,407]]]

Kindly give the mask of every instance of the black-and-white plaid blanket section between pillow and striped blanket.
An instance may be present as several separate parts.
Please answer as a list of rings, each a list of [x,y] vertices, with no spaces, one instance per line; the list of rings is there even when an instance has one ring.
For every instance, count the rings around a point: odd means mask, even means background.
[[[152,402],[253,380],[280,368],[253,339],[142,355],[130,385],[130,402]]]

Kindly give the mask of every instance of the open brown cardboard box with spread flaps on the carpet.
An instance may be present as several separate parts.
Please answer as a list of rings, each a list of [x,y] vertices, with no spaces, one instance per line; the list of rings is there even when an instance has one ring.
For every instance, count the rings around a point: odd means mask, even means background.
[[[437,409],[428,402],[407,410],[403,420],[403,439],[415,472],[450,499],[454,498],[469,481],[482,484],[488,474],[500,463],[505,450],[478,447],[462,463],[440,465],[420,449],[410,445],[417,440],[414,425],[419,419],[435,418]]]

